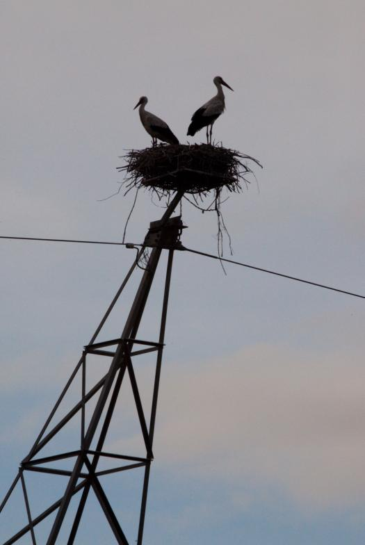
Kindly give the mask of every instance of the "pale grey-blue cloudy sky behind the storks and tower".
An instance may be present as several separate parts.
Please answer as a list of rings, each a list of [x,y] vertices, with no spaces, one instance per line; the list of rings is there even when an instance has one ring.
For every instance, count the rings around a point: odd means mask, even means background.
[[[150,145],[133,106],[147,95],[186,143],[220,75],[234,92],[213,136],[263,165],[222,207],[233,259],[365,294],[364,16],[358,0],[2,0],[0,234],[121,241],[133,195],[103,199],[120,156]],[[162,213],[139,195],[126,240]],[[216,253],[214,215],[184,202],[182,216],[184,245]],[[3,496],[135,254],[7,240],[0,254]],[[143,339],[157,337],[165,263]],[[226,270],[175,252],[144,542],[363,544],[364,302]],[[100,340],[120,334],[140,277]],[[91,382],[103,365],[90,362]],[[136,373],[148,406],[148,357]],[[108,450],[140,452],[127,385],[117,409]],[[54,452],[78,448],[77,433],[70,423]],[[138,471],[103,481],[131,544]],[[65,488],[26,483],[34,515]],[[1,542],[26,523],[16,494]],[[47,525],[36,531],[45,542]],[[76,542],[90,539],[114,542],[92,496]]]

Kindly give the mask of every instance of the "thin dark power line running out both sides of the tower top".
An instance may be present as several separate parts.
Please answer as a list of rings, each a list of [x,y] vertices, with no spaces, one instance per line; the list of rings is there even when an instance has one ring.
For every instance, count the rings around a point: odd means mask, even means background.
[[[122,242],[107,242],[107,241],[78,241],[70,238],[38,238],[31,236],[0,236],[0,238],[7,238],[10,240],[17,241],[44,241],[44,242],[64,242],[64,243],[80,243],[80,244],[106,244],[114,246],[141,246],[141,244],[131,244],[131,243],[122,243]],[[239,265],[241,267],[246,267],[253,270],[260,270],[261,273],[268,273],[269,275],[275,275],[282,278],[288,278],[289,280],[295,280],[295,282],[302,282],[302,284],[309,284],[311,286],[317,286],[318,288],[328,289],[331,291],[336,291],[338,293],[345,293],[345,295],[351,295],[352,297],[357,297],[360,299],[365,299],[365,295],[360,295],[359,293],[353,293],[352,291],[341,290],[339,288],[333,288],[332,286],[326,286],[325,284],[319,284],[318,282],[311,282],[310,280],[305,280],[303,278],[298,278],[295,276],[284,275],[283,273],[277,273],[274,270],[264,269],[261,267],[256,267],[254,265],[248,265],[247,263],[241,263],[241,261],[233,261],[233,259],[225,259],[224,257],[219,257],[213,254],[206,254],[206,252],[199,252],[198,250],[191,250],[191,248],[186,248],[184,246],[179,247],[179,250],[184,250],[185,252],[190,252],[192,254],[202,255],[204,257],[210,257],[211,259],[218,259],[219,261],[225,261],[225,263],[232,263],[233,265]]]

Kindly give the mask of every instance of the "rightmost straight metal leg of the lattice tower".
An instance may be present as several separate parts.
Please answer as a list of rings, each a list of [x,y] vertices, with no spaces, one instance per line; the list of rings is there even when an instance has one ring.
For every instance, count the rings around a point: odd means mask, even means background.
[[[152,396],[151,419],[149,421],[149,442],[151,444],[151,448],[154,441],[154,425],[156,422],[157,398],[159,396],[159,384],[160,384],[160,376],[161,376],[161,364],[162,364],[162,352],[163,352],[162,345],[163,345],[163,341],[165,340],[165,327],[166,327],[166,318],[168,314],[168,296],[170,293],[170,280],[171,280],[173,257],[174,257],[174,250],[169,250],[168,268],[166,271],[165,291],[163,293],[163,306],[162,306],[161,327],[160,327],[160,336],[159,336],[159,343],[161,343],[161,346],[157,354],[156,373],[154,378],[154,393]],[[140,523],[138,527],[137,545],[142,545],[142,540],[143,540],[143,530],[145,527],[145,514],[146,514],[146,506],[147,506],[147,494],[148,494],[150,469],[151,469],[151,464],[148,463],[145,467],[145,477],[143,479],[143,491],[142,491],[142,501],[140,504]]]

